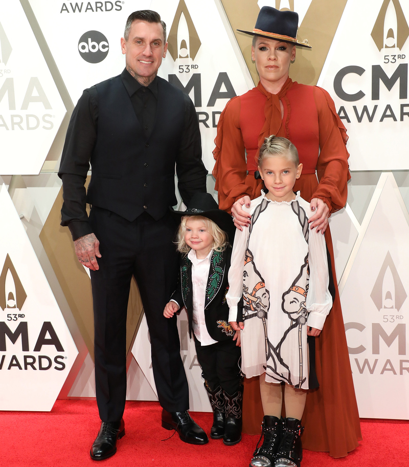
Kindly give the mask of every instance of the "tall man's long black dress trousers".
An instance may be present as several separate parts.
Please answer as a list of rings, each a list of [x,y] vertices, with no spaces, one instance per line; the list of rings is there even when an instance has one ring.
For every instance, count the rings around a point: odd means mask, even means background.
[[[180,358],[176,315],[163,310],[176,287],[178,260],[170,215],[133,222],[94,207],[89,215],[100,241],[99,270],[90,271],[94,302],[95,383],[102,421],[119,421],[126,398],[126,313],[132,275],[138,283],[149,327],[152,369],[161,406],[189,408],[189,388]]]

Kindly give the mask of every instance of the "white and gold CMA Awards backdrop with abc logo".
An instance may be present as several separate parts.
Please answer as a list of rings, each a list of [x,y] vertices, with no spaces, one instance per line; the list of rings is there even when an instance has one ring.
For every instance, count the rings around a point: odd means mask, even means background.
[[[95,397],[89,274],[59,225],[56,174],[82,90],[125,66],[126,18],[152,9],[167,24],[159,74],[192,98],[211,173],[220,113],[258,82],[237,29],[264,5],[298,12],[312,50],[297,51],[290,76],[331,94],[350,137],[348,203],[330,225],[360,416],[409,418],[408,0],[2,0],[0,410]],[[211,175],[208,190],[217,196]],[[191,409],[210,411],[184,312],[178,327]],[[156,400],[135,283],[127,348],[128,399]]]

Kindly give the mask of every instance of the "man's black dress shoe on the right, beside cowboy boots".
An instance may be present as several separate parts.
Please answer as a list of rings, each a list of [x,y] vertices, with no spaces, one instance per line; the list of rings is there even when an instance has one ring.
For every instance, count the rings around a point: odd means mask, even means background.
[[[195,423],[187,411],[167,412],[162,410],[162,427],[176,430],[182,441],[191,444],[206,444],[209,442],[207,434]]]

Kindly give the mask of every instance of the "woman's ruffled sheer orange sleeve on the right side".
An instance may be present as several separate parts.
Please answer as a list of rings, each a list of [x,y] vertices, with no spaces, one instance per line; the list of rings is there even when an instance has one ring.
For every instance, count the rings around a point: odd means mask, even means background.
[[[351,178],[346,148],[348,136],[327,91],[314,87],[314,100],[320,131],[320,156],[316,166],[319,185],[311,198],[322,199],[334,213],[347,202],[347,182]]]

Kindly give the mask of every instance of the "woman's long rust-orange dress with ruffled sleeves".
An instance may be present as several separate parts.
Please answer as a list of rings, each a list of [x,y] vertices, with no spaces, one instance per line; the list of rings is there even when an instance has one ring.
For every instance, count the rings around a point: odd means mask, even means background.
[[[298,149],[303,172],[294,191],[300,190],[301,197],[307,201],[322,199],[331,213],[343,208],[350,179],[345,126],[325,90],[290,78],[279,94],[268,93],[259,83],[257,88],[226,104],[217,126],[213,152],[219,207],[230,211],[242,196],[251,199],[260,196],[262,181],[254,178],[255,158],[264,138],[272,134],[288,138]],[[343,457],[362,438],[329,228],[325,239],[336,293],[323,332],[315,340],[315,370],[320,387],[307,395],[303,446]],[[262,418],[258,378],[245,380],[243,431],[260,433]]]

